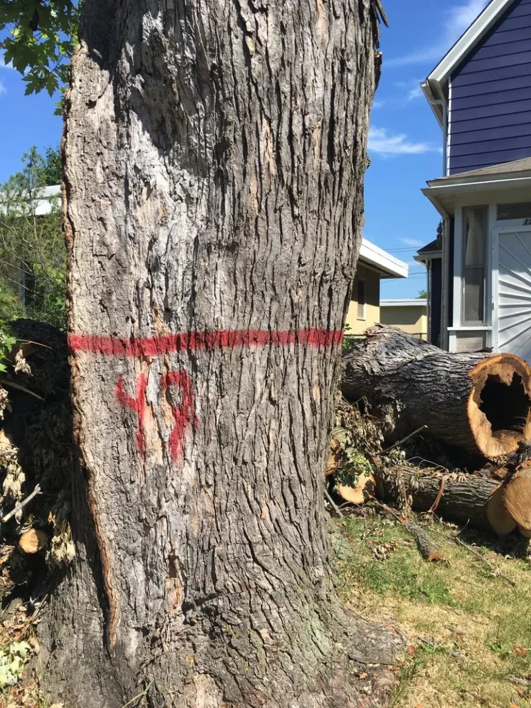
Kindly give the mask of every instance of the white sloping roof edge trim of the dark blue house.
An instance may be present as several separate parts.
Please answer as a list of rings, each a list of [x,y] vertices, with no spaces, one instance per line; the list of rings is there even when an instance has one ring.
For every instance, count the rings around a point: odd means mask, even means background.
[[[446,89],[450,76],[514,2],[515,0],[491,0],[466,32],[455,42],[455,45],[447,52],[445,57],[440,60],[433,72],[428,76],[428,79],[421,84],[426,98],[428,98],[433,112],[441,125],[443,111],[442,106],[437,101],[447,103]]]

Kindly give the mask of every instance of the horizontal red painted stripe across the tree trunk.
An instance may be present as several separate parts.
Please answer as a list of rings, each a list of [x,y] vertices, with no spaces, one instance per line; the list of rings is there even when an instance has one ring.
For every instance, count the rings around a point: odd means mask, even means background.
[[[85,351],[108,356],[153,357],[171,352],[198,349],[222,349],[243,346],[271,346],[280,344],[308,344],[314,347],[331,347],[341,344],[343,331],[327,329],[299,329],[272,332],[269,330],[236,329],[213,332],[183,332],[164,337],[121,339],[98,334],[71,334],[69,344],[74,351]]]

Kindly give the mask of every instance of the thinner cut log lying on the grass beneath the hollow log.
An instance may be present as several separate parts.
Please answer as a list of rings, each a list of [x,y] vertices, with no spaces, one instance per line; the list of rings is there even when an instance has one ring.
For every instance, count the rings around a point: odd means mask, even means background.
[[[401,477],[404,486],[396,484]],[[386,474],[377,474],[377,489],[383,489],[383,501],[396,501],[399,489],[406,490],[411,497],[414,511],[429,511],[439,497],[433,511],[449,521],[459,524],[471,524],[480,530],[491,530],[498,535],[506,535],[516,528],[516,521],[511,517],[503,503],[503,491],[513,480],[501,483],[499,479],[490,479],[472,474],[453,474],[442,476],[434,469],[419,471],[412,467],[396,467]],[[442,494],[440,489],[444,483]]]

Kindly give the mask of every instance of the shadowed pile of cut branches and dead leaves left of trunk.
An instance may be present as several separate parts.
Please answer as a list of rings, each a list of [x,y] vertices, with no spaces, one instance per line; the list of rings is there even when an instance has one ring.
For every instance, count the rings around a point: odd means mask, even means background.
[[[10,329],[16,345],[0,378],[0,708],[48,708],[27,667],[47,597],[74,558],[67,340],[30,320]]]

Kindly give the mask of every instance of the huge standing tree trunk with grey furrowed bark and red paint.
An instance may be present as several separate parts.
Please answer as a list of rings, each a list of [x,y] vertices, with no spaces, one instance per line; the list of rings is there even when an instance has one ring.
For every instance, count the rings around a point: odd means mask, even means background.
[[[377,2],[82,13],[64,134],[78,557],[45,683],[69,708],[148,686],[154,707],[379,704],[389,675],[365,664],[397,639],[342,617],[322,503]]]

